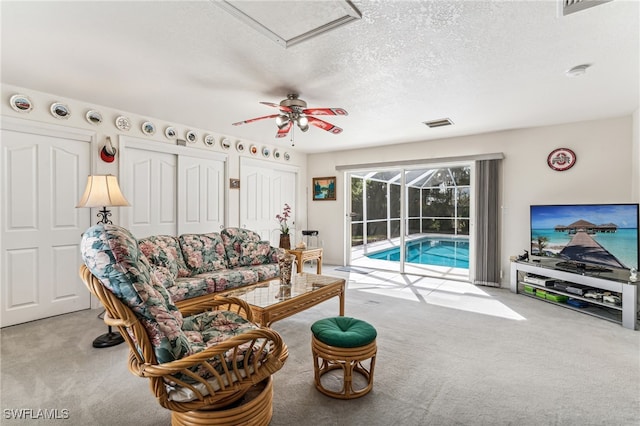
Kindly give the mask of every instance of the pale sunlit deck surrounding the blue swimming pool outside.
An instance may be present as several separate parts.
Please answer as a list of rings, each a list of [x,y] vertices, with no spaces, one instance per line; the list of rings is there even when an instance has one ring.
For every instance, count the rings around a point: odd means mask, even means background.
[[[406,238],[406,241],[419,240],[421,238],[436,237],[442,238],[442,235],[435,234],[413,234]],[[449,237],[449,236],[448,236]],[[455,236],[450,236],[455,239]],[[468,239],[464,237],[459,237]],[[367,244],[365,252],[364,246],[354,246],[351,248],[351,266],[362,268],[380,269],[398,272],[400,270],[400,262],[391,262],[381,259],[370,259],[366,255],[381,250],[397,248],[400,246],[400,238],[392,238],[391,240],[381,240],[375,243]],[[422,265],[418,263],[405,263],[404,272],[406,274],[424,275],[429,277],[447,278],[457,281],[469,281],[469,270],[464,268],[452,268],[449,266]]]

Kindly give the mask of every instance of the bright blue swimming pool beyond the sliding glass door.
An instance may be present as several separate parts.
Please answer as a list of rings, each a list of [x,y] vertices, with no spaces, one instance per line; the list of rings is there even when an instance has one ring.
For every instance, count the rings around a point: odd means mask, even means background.
[[[421,238],[406,243],[406,262],[469,269],[469,240]],[[370,259],[400,261],[400,247],[367,255]]]

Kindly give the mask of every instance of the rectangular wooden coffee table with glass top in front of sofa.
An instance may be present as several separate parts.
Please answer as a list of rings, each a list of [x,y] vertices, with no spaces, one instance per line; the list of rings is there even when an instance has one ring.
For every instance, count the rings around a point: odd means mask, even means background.
[[[275,321],[335,296],[340,298],[340,316],[344,316],[344,290],[345,281],[342,278],[299,273],[292,274],[291,285],[282,285],[276,278],[218,294],[244,300],[253,311],[253,320],[269,327]]]

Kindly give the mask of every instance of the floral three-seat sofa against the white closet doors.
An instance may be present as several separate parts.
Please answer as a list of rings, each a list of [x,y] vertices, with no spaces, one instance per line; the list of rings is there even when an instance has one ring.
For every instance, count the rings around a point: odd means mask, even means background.
[[[242,228],[157,235],[140,239],[138,245],[179,308],[194,298],[279,276],[278,258],[284,254]]]

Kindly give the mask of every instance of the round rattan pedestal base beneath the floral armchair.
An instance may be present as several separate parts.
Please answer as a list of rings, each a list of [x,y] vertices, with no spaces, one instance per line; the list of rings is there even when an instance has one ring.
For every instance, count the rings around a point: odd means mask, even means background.
[[[268,426],[273,415],[273,379],[269,377],[230,407],[171,413],[172,426]]]

